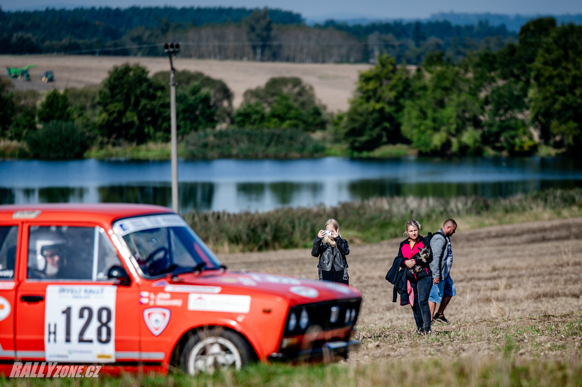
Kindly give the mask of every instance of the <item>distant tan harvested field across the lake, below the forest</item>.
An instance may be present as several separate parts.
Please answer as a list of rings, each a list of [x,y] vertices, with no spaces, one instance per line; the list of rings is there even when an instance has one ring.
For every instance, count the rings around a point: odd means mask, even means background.
[[[24,67],[36,64],[29,70],[30,81],[13,81],[17,89],[37,89],[40,91],[84,87],[99,84],[107,77],[107,71],[123,63],[140,63],[150,70],[150,74],[168,71],[168,58],[140,58],[136,56],[64,56],[64,55],[0,55],[0,66]],[[359,71],[370,68],[368,64],[333,63],[282,63],[282,62],[242,62],[235,60],[176,60],[176,69],[202,71],[218,78],[228,85],[235,94],[234,105],[239,106],[243,93],[249,88],[264,85],[271,77],[300,77],[313,85],[315,95],[328,110],[346,110],[348,99],[352,97],[354,83]],[[40,74],[52,70],[55,82],[45,84]]]

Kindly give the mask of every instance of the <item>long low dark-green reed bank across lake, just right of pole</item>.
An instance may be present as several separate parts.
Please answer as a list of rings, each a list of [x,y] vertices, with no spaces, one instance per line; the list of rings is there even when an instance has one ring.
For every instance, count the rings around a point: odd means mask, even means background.
[[[290,129],[205,130],[185,142],[185,156],[191,159],[315,157],[325,149],[310,135]]]

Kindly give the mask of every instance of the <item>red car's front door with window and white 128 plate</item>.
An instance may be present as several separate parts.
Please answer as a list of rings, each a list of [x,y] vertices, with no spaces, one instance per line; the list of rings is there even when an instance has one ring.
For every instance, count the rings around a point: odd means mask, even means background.
[[[139,290],[108,279],[119,257],[96,224],[23,225],[16,357],[113,363],[139,357]]]

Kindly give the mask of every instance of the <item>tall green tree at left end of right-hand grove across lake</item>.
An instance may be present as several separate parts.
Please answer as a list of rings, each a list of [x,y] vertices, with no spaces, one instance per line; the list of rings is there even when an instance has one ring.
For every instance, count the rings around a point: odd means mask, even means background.
[[[372,69],[360,73],[343,128],[352,150],[372,150],[382,144],[403,142],[400,134],[404,102],[410,95],[406,66],[392,56],[379,55]]]

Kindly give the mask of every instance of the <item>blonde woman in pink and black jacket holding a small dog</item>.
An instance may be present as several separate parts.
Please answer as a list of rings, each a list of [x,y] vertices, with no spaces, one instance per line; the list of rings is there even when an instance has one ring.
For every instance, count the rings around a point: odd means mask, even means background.
[[[431,310],[428,307],[428,296],[432,288],[432,271],[430,263],[432,262],[432,253],[426,262],[420,259],[414,259],[414,255],[420,253],[424,246],[424,238],[419,234],[420,223],[410,219],[404,225],[404,241],[400,242],[398,248],[398,257],[400,257],[400,267],[406,270],[406,280],[410,282],[414,292],[414,302],[412,304],[412,313],[416,321],[417,332],[420,334],[429,334],[431,332]],[[420,266],[421,270],[416,273],[415,266]]]

